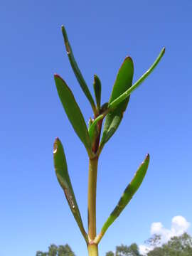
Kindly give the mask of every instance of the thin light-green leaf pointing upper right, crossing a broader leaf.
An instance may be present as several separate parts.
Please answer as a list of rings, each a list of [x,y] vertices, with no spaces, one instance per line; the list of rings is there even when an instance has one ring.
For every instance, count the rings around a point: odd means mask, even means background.
[[[124,100],[126,100],[127,97],[129,97],[129,95],[134,90],[136,90],[137,87],[139,87],[139,85],[141,85],[142,82],[144,82],[144,80],[151,74],[151,72],[154,70],[154,68],[156,68],[156,65],[158,65],[159,61],[163,57],[164,53],[165,53],[165,48],[161,50],[161,53],[159,53],[159,56],[156,58],[156,60],[154,61],[153,65],[151,65],[149,70],[147,70],[146,73],[144,73],[144,75],[142,75],[142,77],[139,78],[139,80],[137,80],[137,82],[135,82],[134,85],[132,85],[132,87],[129,87],[129,89],[126,92],[124,92],[122,95],[119,95],[119,97],[117,97],[115,100],[111,101],[108,108],[110,108],[111,110],[115,109],[116,107],[118,108],[119,105],[121,105],[122,102],[124,102]]]

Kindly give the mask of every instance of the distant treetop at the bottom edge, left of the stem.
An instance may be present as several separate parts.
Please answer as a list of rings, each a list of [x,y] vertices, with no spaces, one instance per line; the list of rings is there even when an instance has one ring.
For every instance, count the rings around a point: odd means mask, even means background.
[[[75,256],[69,245],[54,245],[48,247],[48,252],[36,252],[36,256]]]

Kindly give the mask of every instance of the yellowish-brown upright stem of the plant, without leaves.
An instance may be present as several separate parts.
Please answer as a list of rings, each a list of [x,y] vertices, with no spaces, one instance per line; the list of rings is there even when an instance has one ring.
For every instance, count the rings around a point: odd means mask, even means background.
[[[87,246],[90,256],[97,256],[97,245],[92,244],[96,237],[96,190],[97,190],[97,164],[98,158],[90,159],[89,181],[88,181],[88,238],[90,244]]]

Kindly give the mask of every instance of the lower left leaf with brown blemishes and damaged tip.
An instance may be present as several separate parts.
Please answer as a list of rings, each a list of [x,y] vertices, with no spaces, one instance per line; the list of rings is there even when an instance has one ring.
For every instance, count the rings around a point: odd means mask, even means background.
[[[70,206],[70,210],[72,211],[73,216],[76,222],[78,223],[80,231],[87,242],[87,234],[82,224],[80,210],[78,208],[78,203],[75,199],[73,186],[70,182],[70,176],[68,174],[68,166],[65,159],[63,145],[61,144],[58,138],[55,139],[53,146],[53,159],[55,166],[55,174],[58,178],[58,182],[60,183],[61,188],[63,188],[63,192],[65,193],[65,197],[68,201],[68,205]]]

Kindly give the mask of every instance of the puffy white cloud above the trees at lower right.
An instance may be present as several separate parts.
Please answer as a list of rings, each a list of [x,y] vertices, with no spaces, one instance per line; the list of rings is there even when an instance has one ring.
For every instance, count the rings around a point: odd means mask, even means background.
[[[161,235],[161,244],[168,242],[172,237],[183,235],[188,228],[190,223],[183,216],[175,216],[171,220],[171,228],[164,228],[162,223],[152,223],[151,224],[151,235]],[[146,255],[146,252],[153,250],[153,247],[147,245],[139,245],[139,251],[142,255]]]

